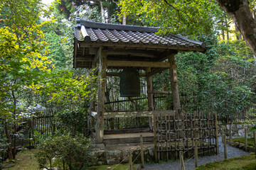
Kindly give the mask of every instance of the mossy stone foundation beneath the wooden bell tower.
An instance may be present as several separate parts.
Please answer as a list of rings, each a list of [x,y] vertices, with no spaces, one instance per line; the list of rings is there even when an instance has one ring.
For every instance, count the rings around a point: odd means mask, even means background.
[[[96,159],[95,165],[101,164],[122,164],[129,163],[129,153],[132,152],[132,160],[136,161],[134,164],[141,164],[140,157],[140,147],[138,144],[127,144],[127,145],[94,145],[94,148],[91,149],[92,157]],[[191,146],[190,146],[191,147]],[[164,147],[163,147],[164,149]],[[182,146],[180,147],[182,150]],[[208,151],[208,144],[203,144],[203,148],[201,145],[198,146],[198,157],[210,156],[215,154],[215,148],[211,147],[210,152]],[[177,153],[177,154],[176,154]],[[202,154],[203,153],[203,154]],[[185,154],[185,158],[193,157],[194,149],[188,150]],[[160,154],[161,160],[166,160],[166,153]],[[169,159],[178,159],[178,152],[169,152]],[[144,144],[144,161],[145,162],[154,162],[154,144]]]

